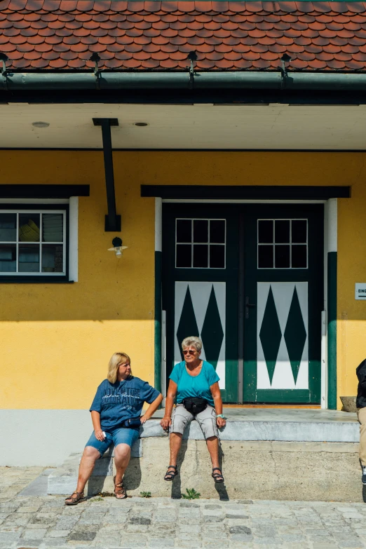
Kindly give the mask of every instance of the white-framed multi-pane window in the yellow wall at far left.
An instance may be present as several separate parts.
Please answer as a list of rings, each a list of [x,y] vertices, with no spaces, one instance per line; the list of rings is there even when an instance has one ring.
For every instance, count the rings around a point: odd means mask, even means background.
[[[67,275],[67,209],[0,209],[0,277]]]

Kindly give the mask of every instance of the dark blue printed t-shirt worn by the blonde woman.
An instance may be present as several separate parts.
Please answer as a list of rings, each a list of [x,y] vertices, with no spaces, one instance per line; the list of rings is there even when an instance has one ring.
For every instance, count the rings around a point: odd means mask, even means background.
[[[130,417],[140,417],[144,402],[151,404],[158,395],[154,387],[139,377],[130,376],[113,384],[104,379],[97,388],[90,412],[99,412],[102,430],[109,431]]]

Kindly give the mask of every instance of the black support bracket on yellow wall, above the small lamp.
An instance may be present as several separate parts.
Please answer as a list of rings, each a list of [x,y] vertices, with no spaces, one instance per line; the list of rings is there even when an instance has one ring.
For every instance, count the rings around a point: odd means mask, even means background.
[[[114,192],[113,157],[111,147],[111,126],[118,126],[118,118],[93,118],[94,126],[102,126],[105,187],[107,189],[108,215],[105,216],[104,231],[121,231],[121,215],[116,213]]]

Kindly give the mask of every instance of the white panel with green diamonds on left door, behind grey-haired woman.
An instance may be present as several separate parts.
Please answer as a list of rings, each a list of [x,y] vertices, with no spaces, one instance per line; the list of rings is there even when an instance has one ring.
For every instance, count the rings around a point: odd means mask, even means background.
[[[215,367],[221,389],[225,388],[225,294],[224,282],[175,283],[175,363],[182,360],[184,337],[201,337],[201,358]]]

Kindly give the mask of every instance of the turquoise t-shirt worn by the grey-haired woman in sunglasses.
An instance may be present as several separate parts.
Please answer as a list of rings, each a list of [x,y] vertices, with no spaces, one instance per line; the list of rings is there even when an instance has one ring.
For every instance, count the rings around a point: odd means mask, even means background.
[[[187,372],[186,363],[178,362],[169,376],[172,381],[177,384],[177,403],[180,404],[187,397],[205,398],[211,406],[214,406],[214,401],[211,395],[210,386],[216,381],[219,381],[219,376],[215,372],[215,368],[203,360],[201,372],[198,376],[190,376]]]

